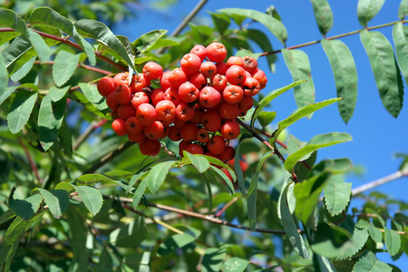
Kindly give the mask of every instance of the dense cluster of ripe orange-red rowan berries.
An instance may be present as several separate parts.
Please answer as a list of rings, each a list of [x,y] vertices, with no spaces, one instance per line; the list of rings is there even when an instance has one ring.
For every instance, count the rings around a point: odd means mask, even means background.
[[[169,137],[180,141],[180,156],[189,151],[231,160],[235,150],[228,142],[240,131],[235,119],[252,108],[267,77],[256,59],[231,56],[224,63],[226,56],[223,44],[198,44],[172,71],[149,62],[142,73],[102,78],[97,87],[112,109],[113,131],[138,142],[144,155],[157,155],[159,140]]]

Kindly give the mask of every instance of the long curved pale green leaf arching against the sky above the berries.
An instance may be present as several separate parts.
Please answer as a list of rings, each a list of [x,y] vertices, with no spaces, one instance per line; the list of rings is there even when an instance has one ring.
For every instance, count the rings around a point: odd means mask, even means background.
[[[256,10],[234,7],[219,9],[218,12],[227,15],[242,15],[251,18],[252,20],[259,22],[260,24],[264,24],[267,29],[272,34],[274,34],[282,44],[285,45],[287,41],[287,28],[284,24],[282,24],[279,20],[272,16],[258,12]]]

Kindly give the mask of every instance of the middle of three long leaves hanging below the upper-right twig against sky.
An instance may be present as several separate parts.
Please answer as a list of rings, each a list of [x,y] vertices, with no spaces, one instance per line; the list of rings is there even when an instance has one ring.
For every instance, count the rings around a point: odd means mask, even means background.
[[[357,101],[357,70],[355,60],[347,45],[338,40],[322,40],[321,44],[329,59],[335,75],[335,89],[337,97],[343,100],[338,102],[338,111],[343,121],[347,123],[355,112]]]

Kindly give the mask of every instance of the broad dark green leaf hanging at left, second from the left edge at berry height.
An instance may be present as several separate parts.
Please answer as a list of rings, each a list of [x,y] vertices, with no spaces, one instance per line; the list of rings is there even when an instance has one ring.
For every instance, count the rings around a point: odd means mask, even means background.
[[[53,102],[49,95],[44,96],[38,113],[38,137],[44,151],[53,146],[58,131],[63,124],[66,99]]]

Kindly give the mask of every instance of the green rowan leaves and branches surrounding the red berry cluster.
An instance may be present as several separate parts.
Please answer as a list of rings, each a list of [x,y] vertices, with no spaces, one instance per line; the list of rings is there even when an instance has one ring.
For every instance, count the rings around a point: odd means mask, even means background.
[[[57,13],[39,7],[26,14],[17,2],[8,7],[20,15],[0,9],[5,271],[390,271],[375,254],[386,251],[397,259],[408,253],[406,203],[373,193],[363,209],[351,209],[353,191],[345,182],[351,161],[316,161],[320,149],[352,141],[349,134],[327,131],[307,142],[282,137],[296,121],[333,103],[345,122],[355,110],[355,62],[338,40],[347,34],[325,36],[333,24],[327,1],[311,2],[337,98],[315,101],[308,57],[299,49],[306,44],[283,48],[294,83],[259,97],[249,120],[238,118],[243,130],[228,165],[204,155],[176,156],[171,141],[163,141],[154,158],[141,155],[112,133],[95,83],[112,73],[141,72],[150,60],[171,69],[194,44],[214,41],[228,53],[266,57],[273,70],[277,51],[266,34],[248,28],[264,24],[285,45],[287,29],[273,7],[267,13],[222,9],[210,14],[213,26],[189,24],[178,37],[156,30],[131,42],[92,20],[101,19],[96,14],[77,20],[80,8]],[[402,1],[393,25],[394,50],[383,34],[366,27],[383,3],[359,1],[364,29],[358,33],[384,108],[397,117],[408,78],[408,5]],[[254,44],[266,52],[253,53]],[[274,121],[269,106],[290,90],[298,109]],[[405,164],[401,175],[407,175]],[[388,204],[401,213],[391,214]]]

